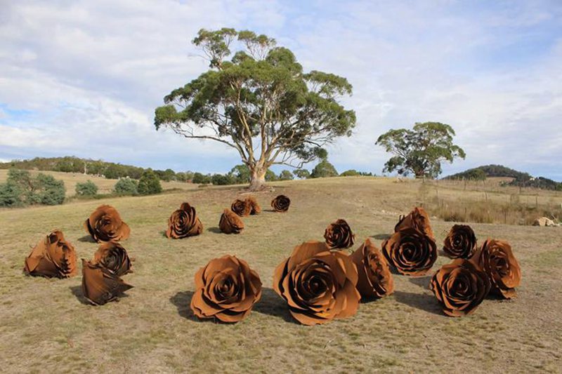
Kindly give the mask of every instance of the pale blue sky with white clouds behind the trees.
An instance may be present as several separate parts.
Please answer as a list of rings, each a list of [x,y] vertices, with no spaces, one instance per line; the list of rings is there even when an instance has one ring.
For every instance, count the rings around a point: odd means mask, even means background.
[[[353,84],[355,133],[329,147],[339,171],[380,174],[381,133],[440,121],[467,154],[444,175],[502,163],[562,180],[558,0],[0,0],[0,159],[229,171],[231,149],[152,124],[164,95],[207,69],[190,44],[203,27],[268,34]]]

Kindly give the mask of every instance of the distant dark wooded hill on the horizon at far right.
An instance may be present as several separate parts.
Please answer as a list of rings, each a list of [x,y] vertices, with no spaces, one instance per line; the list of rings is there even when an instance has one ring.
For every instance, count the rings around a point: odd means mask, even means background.
[[[511,182],[504,185],[516,187],[535,187],[540,189],[552,189],[562,191],[562,183],[556,182],[549,178],[537,177],[533,178],[529,173],[523,173],[503,165],[485,165],[478,168],[471,168],[453,175],[448,175],[443,179],[449,180],[485,180],[488,177],[513,178]]]

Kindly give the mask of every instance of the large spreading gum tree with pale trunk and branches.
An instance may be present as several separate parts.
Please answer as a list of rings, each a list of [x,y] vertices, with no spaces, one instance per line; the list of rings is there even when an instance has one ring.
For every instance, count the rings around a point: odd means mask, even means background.
[[[235,41],[241,48],[233,53]],[[339,102],[352,93],[345,78],[303,72],[289,49],[250,31],[201,29],[193,44],[210,69],[166,95],[155,126],[236,149],[251,189],[262,187],[273,164],[300,167],[323,145],[351,135],[355,112]]]

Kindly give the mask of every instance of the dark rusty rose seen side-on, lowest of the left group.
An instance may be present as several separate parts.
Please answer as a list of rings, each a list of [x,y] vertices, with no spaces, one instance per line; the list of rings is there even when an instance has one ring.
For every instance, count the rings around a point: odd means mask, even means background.
[[[131,288],[133,286],[122,281],[110,269],[82,259],[82,294],[93,305],[117,300],[119,295]]]

